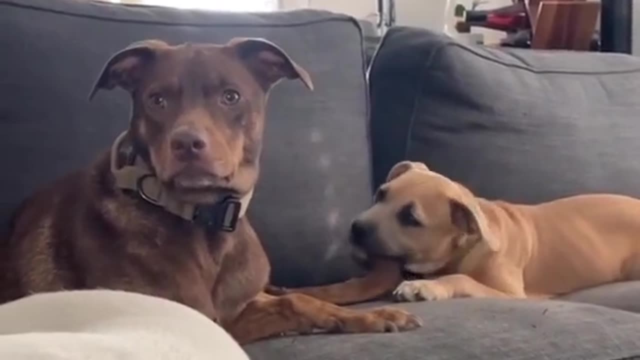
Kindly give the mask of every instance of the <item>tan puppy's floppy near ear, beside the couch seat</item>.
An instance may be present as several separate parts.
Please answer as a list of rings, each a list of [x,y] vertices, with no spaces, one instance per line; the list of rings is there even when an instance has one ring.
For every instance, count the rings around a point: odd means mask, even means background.
[[[484,241],[492,251],[499,250],[500,244],[490,232],[484,213],[475,199],[466,195],[462,200],[451,199],[449,207],[451,208],[451,223],[467,234],[467,238],[463,238],[462,241],[475,238],[478,241]],[[465,243],[458,245],[464,246]]]

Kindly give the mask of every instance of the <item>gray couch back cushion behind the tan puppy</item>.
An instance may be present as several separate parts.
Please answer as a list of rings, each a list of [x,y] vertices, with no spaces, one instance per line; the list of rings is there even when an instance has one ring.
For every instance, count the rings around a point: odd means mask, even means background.
[[[394,28],[369,79],[376,186],[410,159],[490,199],[640,197],[640,58]]]

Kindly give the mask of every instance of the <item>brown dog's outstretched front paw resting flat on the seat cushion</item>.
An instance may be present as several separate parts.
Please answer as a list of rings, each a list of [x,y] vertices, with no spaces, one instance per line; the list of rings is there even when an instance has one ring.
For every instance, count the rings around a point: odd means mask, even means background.
[[[422,326],[418,316],[394,307],[380,307],[340,319],[342,332],[399,332]]]

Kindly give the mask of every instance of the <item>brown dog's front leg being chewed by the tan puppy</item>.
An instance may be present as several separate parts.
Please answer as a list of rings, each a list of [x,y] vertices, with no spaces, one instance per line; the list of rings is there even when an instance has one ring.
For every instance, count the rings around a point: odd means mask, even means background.
[[[371,271],[364,277],[355,277],[337,284],[307,288],[285,289],[268,286],[266,292],[271,295],[299,293],[336,305],[351,305],[387,295],[402,280],[403,271],[397,261],[375,259]]]

